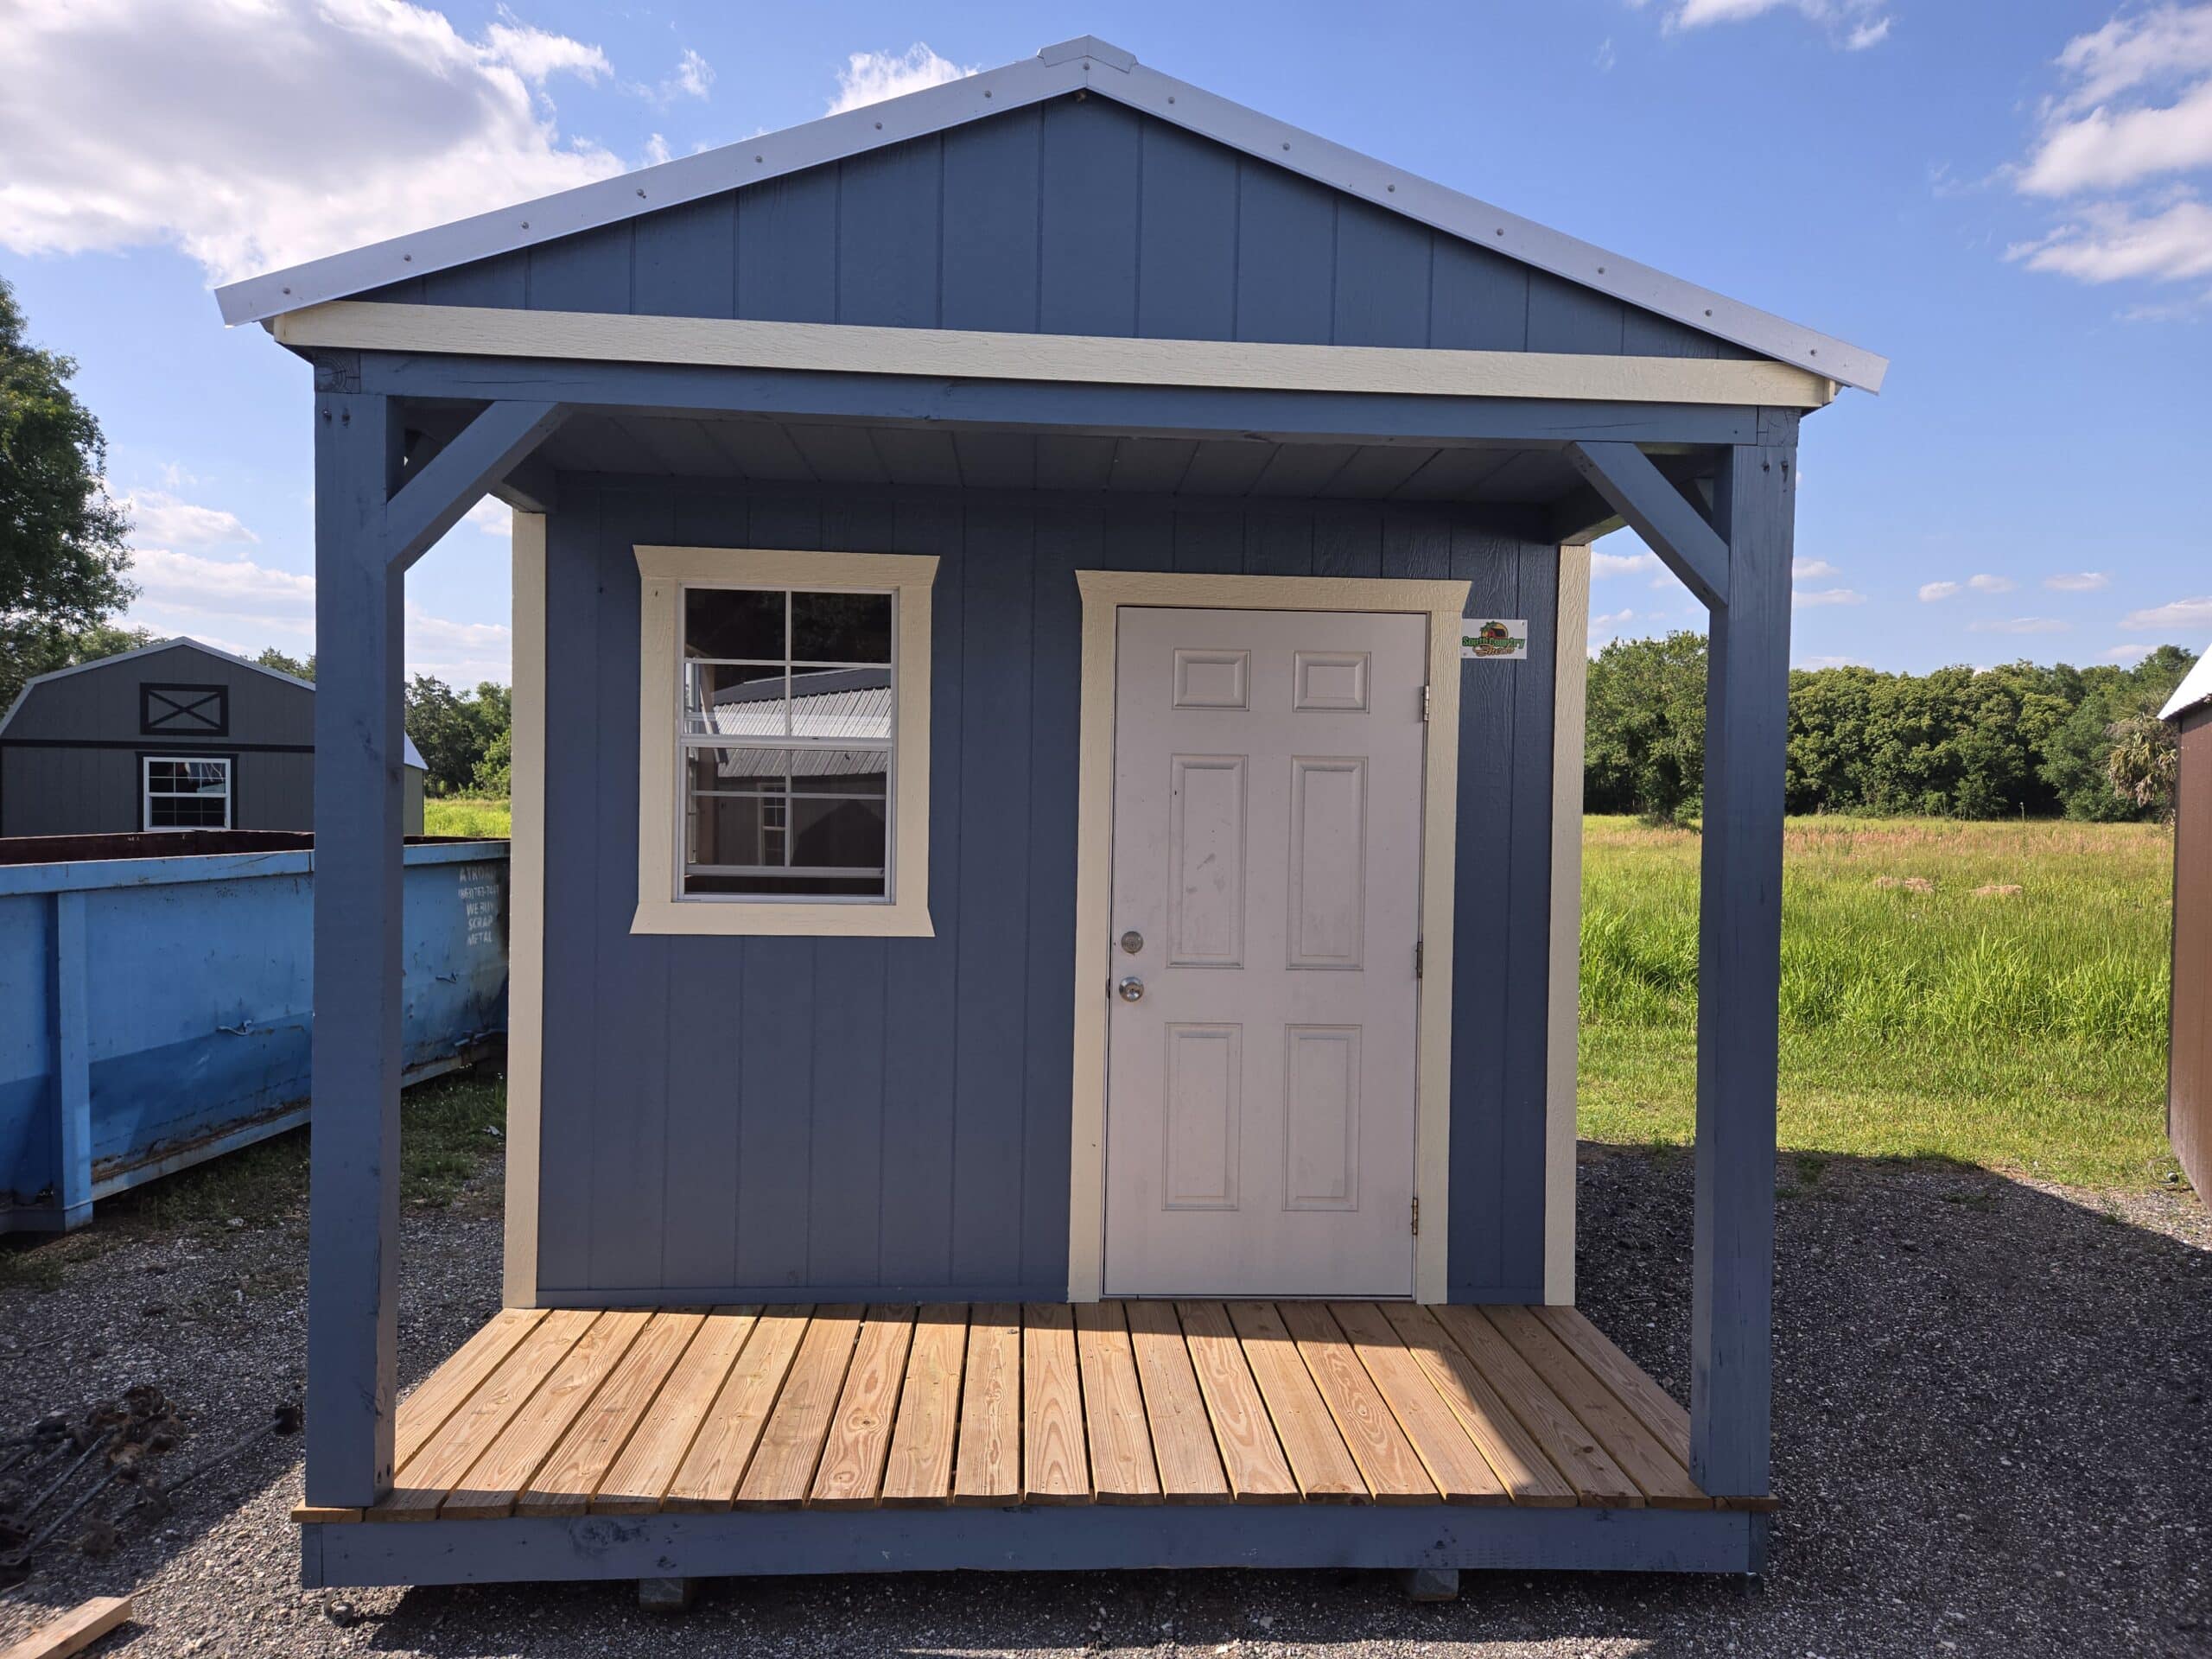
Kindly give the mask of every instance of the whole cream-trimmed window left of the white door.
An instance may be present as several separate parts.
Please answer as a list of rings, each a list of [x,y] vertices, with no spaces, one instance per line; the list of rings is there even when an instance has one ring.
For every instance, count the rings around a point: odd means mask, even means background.
[[[637,549],[641,933],[929,931],[936,560]]]

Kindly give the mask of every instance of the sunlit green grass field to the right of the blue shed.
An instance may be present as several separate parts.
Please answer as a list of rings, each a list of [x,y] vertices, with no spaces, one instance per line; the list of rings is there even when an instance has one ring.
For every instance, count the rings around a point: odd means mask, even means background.
[[[2154,825],[1792,818],[1781,1144],[2084,1186],[2174,1179],[2172,845]],[[1697,858],[1694,832],[1584,823],[1590,1139],[1690,1141]]]

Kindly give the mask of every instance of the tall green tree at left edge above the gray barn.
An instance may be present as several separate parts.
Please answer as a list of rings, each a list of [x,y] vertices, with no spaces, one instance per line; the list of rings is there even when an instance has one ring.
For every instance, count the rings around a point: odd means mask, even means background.
[[[95,633],[131,599],[131,520],[102,487],[106,442],[73,358],[24,338],[0,281],[0,708],[31,675],[111,655]]]

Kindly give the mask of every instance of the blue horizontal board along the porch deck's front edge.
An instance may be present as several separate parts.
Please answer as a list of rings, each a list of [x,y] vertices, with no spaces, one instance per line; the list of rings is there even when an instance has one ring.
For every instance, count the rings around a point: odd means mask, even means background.
[[[1761,1573],[1767,1517],[1728,1509],[1378,1504],[863,1509],[301,1526],[323,1586],[1150,1566]]]

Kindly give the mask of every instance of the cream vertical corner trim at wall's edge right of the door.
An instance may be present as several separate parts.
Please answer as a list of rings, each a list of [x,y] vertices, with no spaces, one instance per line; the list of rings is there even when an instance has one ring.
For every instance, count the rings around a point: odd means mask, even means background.
[[[1551,998],[1544,1037],[1544,1301],[1575,1301],[1575,1060],[1582,1024],[1582,723],[1590,549],[1559,549],[1559,677],[1551,703]]]

